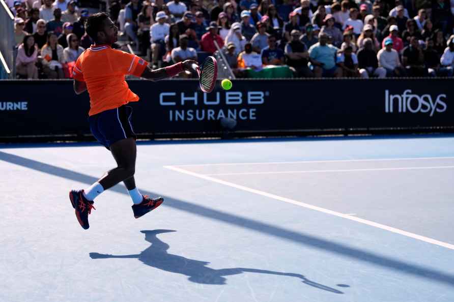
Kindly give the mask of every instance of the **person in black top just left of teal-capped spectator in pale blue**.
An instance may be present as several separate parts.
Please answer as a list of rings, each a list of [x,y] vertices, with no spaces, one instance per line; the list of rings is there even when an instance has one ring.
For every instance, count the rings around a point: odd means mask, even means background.
[[[361,78],[367,79],[369,76],[379,78],[386,77],[386,70],[378,67],[377,53],[372,49],[373,43],[371,38],[364,39],[364,47],[356,54],[358,57],[358,68]]]

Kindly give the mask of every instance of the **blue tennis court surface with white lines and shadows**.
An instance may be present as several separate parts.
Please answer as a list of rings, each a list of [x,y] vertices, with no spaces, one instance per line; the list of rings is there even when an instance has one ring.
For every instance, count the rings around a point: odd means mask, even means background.
[[[82,230],[96,143],[3,145],[0,301],[452,301],[454,137],[139,142]]]

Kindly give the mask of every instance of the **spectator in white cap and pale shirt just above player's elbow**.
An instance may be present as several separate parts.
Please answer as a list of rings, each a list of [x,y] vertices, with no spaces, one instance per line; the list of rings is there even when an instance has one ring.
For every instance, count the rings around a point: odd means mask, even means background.
[[[165,53],[165,36],[168,35],[170,25],[165,23],[167,15],[164,12],[156,14],[156,23],[150,27],[150,43],[152,52],[153,69],[156,69],[159,58]]]

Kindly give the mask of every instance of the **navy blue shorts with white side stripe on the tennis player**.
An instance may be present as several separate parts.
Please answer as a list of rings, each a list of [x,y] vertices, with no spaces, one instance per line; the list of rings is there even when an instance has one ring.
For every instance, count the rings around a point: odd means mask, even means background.
[[[121,107],[105,110],[90,116],[90,130],[95,138],[110,150],[110,145],[129,137],[136,138],[131,124],[132,108]]]

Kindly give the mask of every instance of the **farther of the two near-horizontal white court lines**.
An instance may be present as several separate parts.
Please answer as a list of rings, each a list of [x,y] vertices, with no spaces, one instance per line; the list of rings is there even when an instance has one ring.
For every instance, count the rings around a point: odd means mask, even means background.
[[[279,165],[279,164],[310,164],[310,163],[349,163],[349,162],[383,162],[383,161],[417,161],[454,159],[454,156],[445,157],[408,157],[408,158],[378,158],[378,159],[350,159],[350,160],[325,160],[325,161],[295,161],[295,162],[269,162],[269,163],[221,163],[221,164],[196,164],[196,165],[174,165],[173,167],[195,167],[195,166],[236,166],[236,165]]]

